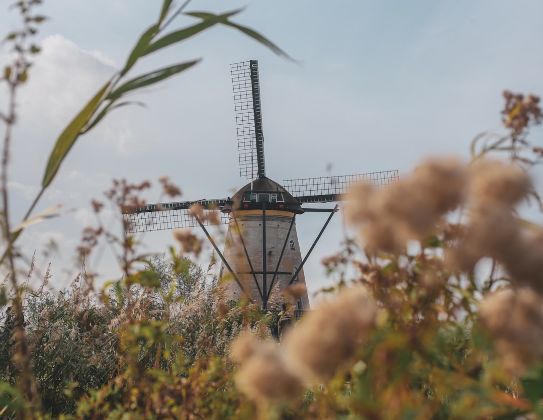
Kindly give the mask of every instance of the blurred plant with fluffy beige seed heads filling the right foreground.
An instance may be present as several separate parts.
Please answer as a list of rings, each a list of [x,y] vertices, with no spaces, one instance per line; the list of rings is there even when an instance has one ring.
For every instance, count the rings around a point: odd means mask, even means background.
[[[261,418],[543,418],[543,228],[516,210],[538,197],[526,134],[541,110],[513,97],[500,147],[352,189],[346,216],[364,248],[348,241],[325,260],[339,294],[279,347],[232,346]]]

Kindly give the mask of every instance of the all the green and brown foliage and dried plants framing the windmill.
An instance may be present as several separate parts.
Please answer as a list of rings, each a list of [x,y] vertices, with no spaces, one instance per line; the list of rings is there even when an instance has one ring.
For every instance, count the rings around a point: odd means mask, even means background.
[[[9,112],[0,115],[7,127],[2,262],[11,274],[0,289],[0,416],[543,417],[543,230],[517,214],[522,200],[539,203],[529,171],[542,149],[528,143],[529,128],[542,119],[538,97],[504,93],[508,133],[477,136],[469,164],[428,160],[386,189],[353,189],[348,217],[359,237],[325,260],[339,276],[338,287],[277,343],[271,314],[243,300],[226,303],[222,286],[208,280],[203,267],[175,249],[167,258],[140,254],[134,236],[115,237],[99,217],[98,227],[84,231],[81,256],[104,236],[121,262],[121,279],[97,292],[83,264],[70,287],[56,294],[47,290],[49,272],[37,290],[18,283],[17,237],[53,215],[30,219],[79,136],[127,104],[128,92],[197,63],[128,78],[138,60],[216,24],[282,54],[232,23],[236,12],[192,13],[197,24],[165,35],[184,6],[174,12],[172,2],[163,1],[122,70],[59,136],[40,193],[12,228],[8,152],[15,94],[27,80],[29,54],[39,49],[28,42],[34,24],[45,19],[33,13],[39,3],[17,3],[24,27],[8,35],[17,54],[2,78],[10,87]],[[507,158],[497,160],[504,152]],[[161,183],[166,195],[179,194],[167,180]],[[106,197],[120,214],[124,205],[141,203],[148,187],[114,181]],[[103,204],[93,205],[99,216]],[[192,234],[176,237],[186,252],[200,252]],[[33,264],[28,279],[32,271]],[[348,272],[356,274],[347,278]]]

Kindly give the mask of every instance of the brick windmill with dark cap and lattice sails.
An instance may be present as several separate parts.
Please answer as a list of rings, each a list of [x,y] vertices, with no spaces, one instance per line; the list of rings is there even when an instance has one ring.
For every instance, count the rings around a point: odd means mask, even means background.
[[[397,171],[383,171],[338,177],[283,180],[280,185],[266,177],[262,106],[258,61],[230,65],[236,111],[239,174],[250,180],[232,197],[185,202],[124,206],[125,229],[130,233],[200,227],[216,250],[222,264],[219,281],[230,273],[226,294],[237,300],[246,297],[268,308],[276,287],[285,290],[294,283],[305,286],[303,267],[317,245],[332,216],[333,208],[302,208],[306,203],[330,203],[343,200],[349,186],[367,181],[382,187],[392,184]],[[197,204],[201,212],[188,211]],[[206,229],[210,212],[219,223],[228,224],[223,252]],[[328,212],[326,222],[304,258],[301,256],[295,219],[305,212]],[[306,290],[305,288],[301,288]],[[310,309],[307,292],[302,293],[295,309]]]

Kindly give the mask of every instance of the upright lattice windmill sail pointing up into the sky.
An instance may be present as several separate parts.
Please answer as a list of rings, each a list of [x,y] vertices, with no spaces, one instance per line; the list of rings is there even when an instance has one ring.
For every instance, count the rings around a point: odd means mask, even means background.
[[[265,177],[258,61],[231,64],[230,73],[236,109],[239,175],[246,179]]]

